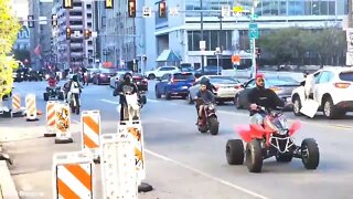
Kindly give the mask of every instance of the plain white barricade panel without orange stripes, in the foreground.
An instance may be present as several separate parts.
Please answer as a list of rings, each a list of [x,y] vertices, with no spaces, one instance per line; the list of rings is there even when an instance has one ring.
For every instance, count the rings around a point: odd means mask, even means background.
[[[101,186],[103,198],[138,198],[133,145],[127,134],[103,134]]]

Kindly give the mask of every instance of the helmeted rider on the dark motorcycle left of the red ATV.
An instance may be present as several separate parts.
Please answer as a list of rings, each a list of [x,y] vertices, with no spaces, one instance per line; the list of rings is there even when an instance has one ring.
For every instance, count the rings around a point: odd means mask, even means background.
[[[210,83],[210,82],[208,82]],[[207,90],[207,81],[200,82],[200,90],[196,94],[196,98],[202,101],[197,101],[196,103],[196,111],[197,111],[197,118],[202,119],[202,112],[206,103],[214,103],[215,104],[215,96],[214,94]],[[199,119],[196,124],[199,123]]]

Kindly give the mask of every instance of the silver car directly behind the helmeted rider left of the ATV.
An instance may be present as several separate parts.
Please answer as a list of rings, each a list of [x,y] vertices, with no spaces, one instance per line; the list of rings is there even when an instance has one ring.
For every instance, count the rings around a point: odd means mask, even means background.
[[[204,75],[197,78],[193,86],[189,88],[189,104],[193,104],[192,100],[196,97],[196,94],[200,91],[200,81],[203,77],[208,77],[210,82],[216,87],[216,91],[213,91],[213,93],[216,96],[216,102],[220,104],[233,102],[235,94],[242,90],[242,83],[232,76]]]

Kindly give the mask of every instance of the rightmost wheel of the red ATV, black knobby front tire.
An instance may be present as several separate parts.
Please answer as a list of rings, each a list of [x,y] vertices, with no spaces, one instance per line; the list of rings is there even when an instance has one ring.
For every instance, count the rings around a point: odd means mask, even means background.
[[[307,138],[301,143],[301,161],[307,169],[317,169],[320,161],[320,151],[313,138]]]

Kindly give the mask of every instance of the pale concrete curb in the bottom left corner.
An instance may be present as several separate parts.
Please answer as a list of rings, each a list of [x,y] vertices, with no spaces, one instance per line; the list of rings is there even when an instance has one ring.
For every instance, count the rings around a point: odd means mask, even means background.
[[[0,160],[0,199],[19,199],[7,161]]]

